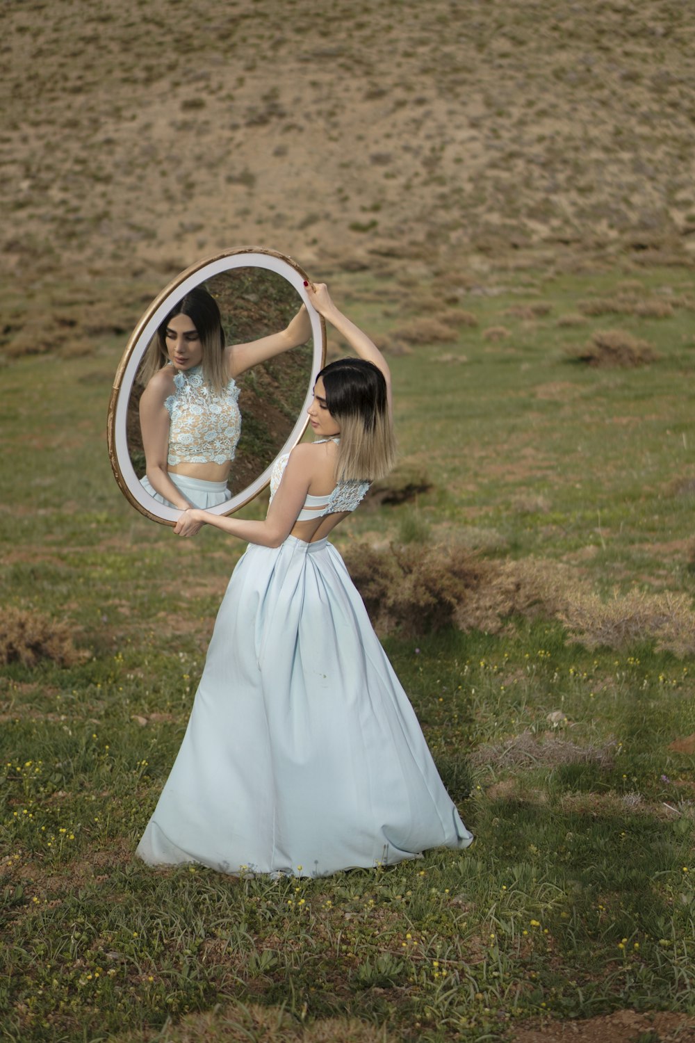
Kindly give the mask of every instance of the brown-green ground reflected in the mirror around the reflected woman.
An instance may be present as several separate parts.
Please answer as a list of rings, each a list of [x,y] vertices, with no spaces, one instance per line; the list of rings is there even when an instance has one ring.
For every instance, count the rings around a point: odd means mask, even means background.
[[[282,275],[263,268],[234,268],[200,284],[220,309],[225,344],[258,340],[288,326],[302,299]],[[153,338],[156,340],[156,334]],[[312,373],[311,341],[251,367],[237,379],[242,430],[227,486],[231,495],[269,467],[300,415]],[[128,454],[139,479],[146,460],[140,420],[144,363],[128,402]]]

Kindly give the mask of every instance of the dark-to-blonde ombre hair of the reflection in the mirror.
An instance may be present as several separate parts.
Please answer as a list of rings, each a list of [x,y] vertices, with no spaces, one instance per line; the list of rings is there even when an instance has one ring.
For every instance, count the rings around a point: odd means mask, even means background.
[[[215,297],[203,286],[195,286],[172,308],[147,346],[139,373],[140,383],[146,386],[163,366],[169,362],[167,328],[176,315],[187,315],[193,322],[203,351],[202,367],[205,384],[222,394],[229,383],[229,372],[224,355],[225,336],[222,316]]]

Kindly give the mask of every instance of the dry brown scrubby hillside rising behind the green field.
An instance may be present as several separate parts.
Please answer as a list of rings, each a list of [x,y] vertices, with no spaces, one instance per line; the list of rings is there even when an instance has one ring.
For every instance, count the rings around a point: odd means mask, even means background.
[[[680,0],[8,3],[0,270],[690,258],[694,30]]]

